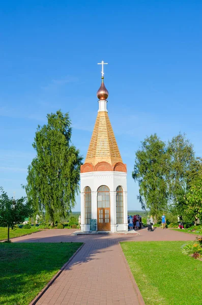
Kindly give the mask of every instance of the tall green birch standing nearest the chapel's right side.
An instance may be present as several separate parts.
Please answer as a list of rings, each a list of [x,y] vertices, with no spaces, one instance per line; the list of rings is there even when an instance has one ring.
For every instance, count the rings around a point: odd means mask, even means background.
[[[132,177],[139,185],[137,198],[155,217],[167,208],[167,158],[166,145],[156,134],[141,142],[136,151]]]

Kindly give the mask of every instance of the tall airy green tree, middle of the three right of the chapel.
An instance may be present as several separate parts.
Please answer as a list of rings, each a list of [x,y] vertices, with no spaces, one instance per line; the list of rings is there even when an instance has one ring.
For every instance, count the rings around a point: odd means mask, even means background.
[[[194,162],[193,145],[186,139],[185,134],[168,141],[169,158],[168,192],[172,202],[172,211],[183,214],[185,210],[185,195],[187,192],[187,172]]]

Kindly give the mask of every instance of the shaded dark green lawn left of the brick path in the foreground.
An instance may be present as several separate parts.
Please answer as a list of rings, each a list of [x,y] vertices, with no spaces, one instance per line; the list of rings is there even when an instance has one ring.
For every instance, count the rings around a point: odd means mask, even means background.
[[[81,245],[0,243],[0,304],[29,304]]]

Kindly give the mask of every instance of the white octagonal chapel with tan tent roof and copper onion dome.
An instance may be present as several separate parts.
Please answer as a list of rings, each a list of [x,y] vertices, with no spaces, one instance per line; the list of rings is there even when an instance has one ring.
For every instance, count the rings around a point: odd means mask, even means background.
[[[127,168],[107,111],[103,61],[98,115],[85,162],[80,168],[81,231],[128,231]],[[94,223],[94,226],[92,224]]]

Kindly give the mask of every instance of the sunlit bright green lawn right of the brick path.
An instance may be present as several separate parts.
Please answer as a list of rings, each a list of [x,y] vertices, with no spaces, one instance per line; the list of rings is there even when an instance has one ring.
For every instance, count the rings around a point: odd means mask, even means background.
[[[121,242],[146,305],[201,305],[202,261],[181,253],[185,243]]]

